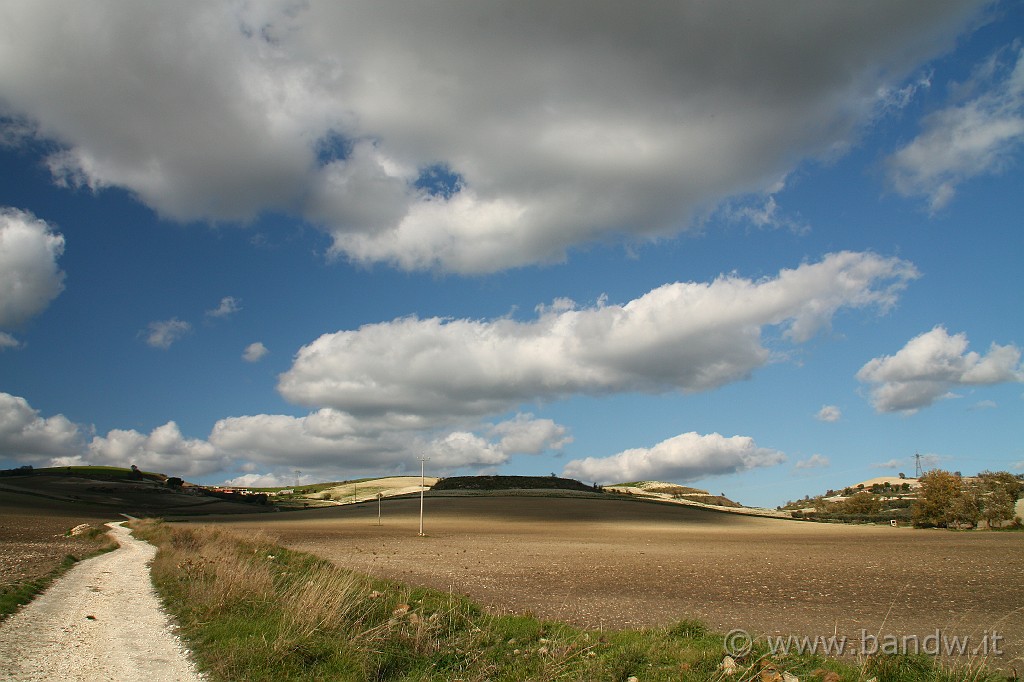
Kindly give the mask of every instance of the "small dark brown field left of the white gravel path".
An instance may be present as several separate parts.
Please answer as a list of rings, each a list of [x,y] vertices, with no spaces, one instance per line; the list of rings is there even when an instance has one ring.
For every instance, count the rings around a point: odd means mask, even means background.
[[[67,537],[76,525],[124,520],[95,507],[0,491],[0,587],[46,576],[69,554],[82,558],[98,544]],[[105,528],[104,528],[105,530]]]

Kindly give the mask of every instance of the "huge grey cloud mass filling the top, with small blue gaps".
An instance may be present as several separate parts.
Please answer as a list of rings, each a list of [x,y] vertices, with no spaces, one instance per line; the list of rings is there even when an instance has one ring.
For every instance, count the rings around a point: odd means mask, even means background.
[[[835,155],[983,4],[14,3],[0,114],[67,185],[493,271],[678,231]]]

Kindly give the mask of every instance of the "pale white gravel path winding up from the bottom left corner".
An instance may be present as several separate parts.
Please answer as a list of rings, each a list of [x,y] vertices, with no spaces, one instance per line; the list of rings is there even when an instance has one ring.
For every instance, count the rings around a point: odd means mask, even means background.
[[[108,523],[121,547],[76,564],[0,624],[0,680],[202,680],[150,581],[157,550]]]

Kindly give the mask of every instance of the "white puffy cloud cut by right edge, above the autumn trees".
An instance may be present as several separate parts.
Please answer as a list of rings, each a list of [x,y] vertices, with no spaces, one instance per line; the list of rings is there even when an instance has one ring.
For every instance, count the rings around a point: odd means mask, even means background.
[[[870,386],[878,412],[913,414],[961,386],[1024,381],[1021,350],[993,343],[988,353],[968,351],[964,333],[939,326],[907,341],[895,355],[868,361],[857,379]]]

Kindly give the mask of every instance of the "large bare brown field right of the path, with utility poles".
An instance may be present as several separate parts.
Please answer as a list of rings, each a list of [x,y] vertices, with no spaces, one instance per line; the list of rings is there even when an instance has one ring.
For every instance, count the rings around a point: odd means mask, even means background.
[[[197,519],[201,520],[201,519]],[[202,519],[209,522],[210,519]],[[995,631],[1024,670],[1024,534],[740,516],[618,500],[419,500],[224,517],[356,570],[590,628],[699,619],[728,632],[880,637]]]

